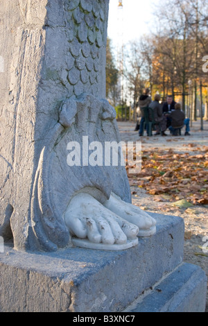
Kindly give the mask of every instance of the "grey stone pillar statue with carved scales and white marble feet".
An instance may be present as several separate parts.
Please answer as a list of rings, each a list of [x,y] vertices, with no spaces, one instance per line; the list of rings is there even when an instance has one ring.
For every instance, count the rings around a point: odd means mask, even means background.
[[[58,250],[71,242],[122,250],[156,231],[155,220],[131,204],[124,166],[93,166],[85,155],[81,164],[67,162],[85,137],[103,146],[120,141],[105,100],[108,5],[3,0],[12,33],[2,29],[1,44],[12,50],[4,56],[0,235],[12,234],[17,250]]]

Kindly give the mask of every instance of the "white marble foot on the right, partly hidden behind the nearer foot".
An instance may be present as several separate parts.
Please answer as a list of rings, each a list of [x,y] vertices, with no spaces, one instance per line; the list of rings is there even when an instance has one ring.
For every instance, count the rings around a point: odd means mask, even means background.
[[[156,232],[156,221],[146,212],[130,203],[125,203],[120,197],[112,194],[103,204],[115,214],[121,216],[139,228],[138,237],[148,237]]]

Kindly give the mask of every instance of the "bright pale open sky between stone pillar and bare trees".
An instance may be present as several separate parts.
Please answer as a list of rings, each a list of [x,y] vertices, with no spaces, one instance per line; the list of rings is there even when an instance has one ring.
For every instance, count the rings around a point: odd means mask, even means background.
[[[154,6],[159,0],[123,0],[123,43],[137,40],[141,35],[147,34],[154,25]],[[122,27],[118,28],[119,0],[110,0],[109,20],[107,33],[114,46],[120,37]]]

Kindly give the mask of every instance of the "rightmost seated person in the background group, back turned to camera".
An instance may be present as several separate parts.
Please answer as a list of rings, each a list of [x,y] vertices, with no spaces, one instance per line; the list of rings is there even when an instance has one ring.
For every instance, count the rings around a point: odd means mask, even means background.
[[[169,126],[169,130],[174,133],[175,129],[183,128],[186,126],[185,136],[189,136],[189,119],[185,119],[185,114],[181,110],[180,103],[175,104],[175,110],[172,110],[171,113],[168,115],[168,118],[171,119],[171,126]]]

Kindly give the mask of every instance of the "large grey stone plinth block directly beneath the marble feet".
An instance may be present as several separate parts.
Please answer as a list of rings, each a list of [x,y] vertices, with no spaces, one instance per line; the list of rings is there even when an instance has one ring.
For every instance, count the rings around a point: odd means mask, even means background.
[[[187,266],[181,265],[183,220],[151,215],[157,220],[157,233],[139,238],[138,246],[128,250],[71,247],[58,252],[17,252],[5,246],[0,254],[0,311],[123,311],[146,289],[168,280],[165,277],[172,271],[180,288],[182,273],[175,268]],[[195,282],[194,277],[192,280]],[[192,284],[191,278],[187,282]],[[196,286],[194,298],[199,291]],[[157,308],[157,302],[154,304]],[[177,304],[171,307],[177,309]]]

